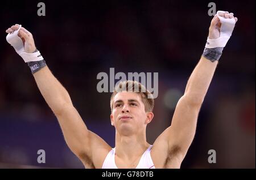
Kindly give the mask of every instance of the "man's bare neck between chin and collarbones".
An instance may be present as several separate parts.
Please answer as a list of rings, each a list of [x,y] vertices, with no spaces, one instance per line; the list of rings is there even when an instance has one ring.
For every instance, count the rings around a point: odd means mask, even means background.
[[[146,140],[146,132],[125,136],[116,132],[115,155],[121,158],[131,159],[141,156],[150,144]]]

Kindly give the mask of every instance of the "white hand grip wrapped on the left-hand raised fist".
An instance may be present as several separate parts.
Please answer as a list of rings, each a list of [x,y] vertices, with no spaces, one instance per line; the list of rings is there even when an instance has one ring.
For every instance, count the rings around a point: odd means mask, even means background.
[[[40,52],[35,53],[26,53],[24,50],[24,45],[22,39],[18,36],[19,29],[21,28],[21,25],[19,25],[19,28],[12,32],[8,33],[6,36],[6,41],[13,46],[16,53],[18,53],[24,60],[24,62],[30,62],[30,61],[42,61],[44,58],[40,54]]]

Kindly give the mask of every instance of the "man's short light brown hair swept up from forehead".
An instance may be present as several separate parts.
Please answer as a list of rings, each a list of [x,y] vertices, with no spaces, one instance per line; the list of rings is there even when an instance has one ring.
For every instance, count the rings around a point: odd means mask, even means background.
[[[114,87],[114,91],[110,98],[110,109],[113,112],[113,99],[114,96],[117,95],[118,92],[127,91],[127,92],[134,92],[139,93],[141,95],[142,102],[145,106],[145,112],[152,112],[154,109],[154,98],[152,93],[149,92],[143,84],[133,81],[133,80],[125,80],[119,82]],[[148,98],[150,97],[150,98]]]

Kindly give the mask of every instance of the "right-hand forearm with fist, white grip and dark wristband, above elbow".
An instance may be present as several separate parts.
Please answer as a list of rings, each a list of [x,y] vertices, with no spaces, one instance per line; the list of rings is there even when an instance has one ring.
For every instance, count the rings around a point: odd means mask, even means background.
[[[232,35],[234,25],[237,22],[237,18],[233,15],[227,11],[217,11],[210,23],[209,36],[203,55],[193,70],[185,89],[185,97],[188,97],[188,100],[192,100],[193,103],[203,103],[218,59],[220,59],[222,50]]]

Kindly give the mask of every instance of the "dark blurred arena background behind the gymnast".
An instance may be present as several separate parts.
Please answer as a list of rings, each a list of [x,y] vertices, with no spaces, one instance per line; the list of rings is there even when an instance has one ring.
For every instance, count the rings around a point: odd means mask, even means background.
[[[1,2],[0,168],[84,168],[64,142],[26,63],[6,42],[22,24],[69,92],[86,126],[114,147],[111,93],[97,92],[97,74],[158,72],[149,143],[170,126],[177,100],[204,50],[212,16],[192,1]],[[195,139],[181,168],[255,168],[255,1],[214,1],[238,17],[201,108]],[[46,151],[46,164],[37,152]],[[208,163],[208,151],[217,163]]]

